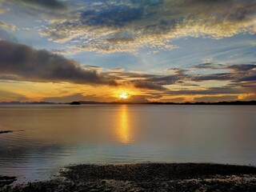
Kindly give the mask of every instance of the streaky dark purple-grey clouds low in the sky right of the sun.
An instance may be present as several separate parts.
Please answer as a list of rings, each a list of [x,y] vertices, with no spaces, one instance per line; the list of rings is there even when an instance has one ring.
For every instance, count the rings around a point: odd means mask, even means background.
[[[144,78],[144,81],[154,83],[158,86],[175,86],[175,90],[164,93],[167,94],[241,94],[243,92],[256,93],[256,65],[255,64],[239,64],[239,65],[223,65],[218,63],[203,63],[194,66],[200,69],[211,70],[228,70],[229,72],[218,74],[194,74],[186,73],[188,70],[179,68],[169,69],[171,75],[154,75]],[[192,84],[188,84],[190,82]],[[214,82],[213,85],[220,82],[226,82],[226,86],[201,86],[194,85],[193,82]],[[193,89],[186,86],[193,85]],[[170,87],[169,87],[170,88]],[[170,88],[172,89],[172,88]]]

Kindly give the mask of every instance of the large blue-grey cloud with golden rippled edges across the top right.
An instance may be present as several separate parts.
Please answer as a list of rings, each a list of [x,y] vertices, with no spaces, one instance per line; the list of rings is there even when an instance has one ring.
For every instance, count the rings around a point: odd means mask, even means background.
[[[70,19],[50,21],[41,34],[78,51],[170,50],[175,38],[255,34],[255,10],[255,1],[243,0],[78,1]]]

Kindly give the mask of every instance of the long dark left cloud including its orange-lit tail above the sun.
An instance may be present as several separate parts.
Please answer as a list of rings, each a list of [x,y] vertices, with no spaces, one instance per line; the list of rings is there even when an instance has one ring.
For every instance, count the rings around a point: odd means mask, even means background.
[[[47,50],[35,50],[14,42],[0,41],[0,50],[0,80],[71,82],[96,86],[128,85],[142,90],[166,90],[157,83],[142,80],[154,76],[152,74],[126,73],[122,69],[99,73],[101,67],[82,66]],[[139,80],[134,80],[135,78]]]

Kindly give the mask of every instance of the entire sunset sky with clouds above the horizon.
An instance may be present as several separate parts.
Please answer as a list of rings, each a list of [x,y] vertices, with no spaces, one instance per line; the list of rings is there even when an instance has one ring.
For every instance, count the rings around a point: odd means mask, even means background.
[[[256,100],[255,58],[255,0],[0,0],[0,102]]]

